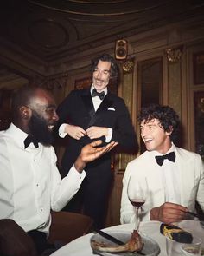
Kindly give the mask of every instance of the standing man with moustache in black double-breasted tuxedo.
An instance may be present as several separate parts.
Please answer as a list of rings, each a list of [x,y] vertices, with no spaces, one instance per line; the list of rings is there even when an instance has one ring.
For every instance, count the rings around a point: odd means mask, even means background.
[[[67,174],[80,149],[90,141],[99,138],[104,143],[118,141],[124,149],[137,150],[137,136],[124,100],[108,89],[109,79],[118,75],[118,64],[112,56],[97,56],[92,60],[91,87],[73,90],[57,109],[59,135],[68,140],[61,161],[62,176]],[[88,164],[86,174],[79,193],[66,210],[80,212],[83,209],[95,226],[102,228],[112,177],[111,154]]]

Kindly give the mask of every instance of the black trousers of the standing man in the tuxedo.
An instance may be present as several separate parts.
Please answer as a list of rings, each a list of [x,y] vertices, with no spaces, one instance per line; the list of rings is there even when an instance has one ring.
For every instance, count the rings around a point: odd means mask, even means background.
[[[86,170],[86,178],[80,190],[74,195],[63,211],[83,213],[93,220],[93,227],[105,227],[112,172],[110,167],[106,170],[97,170],[96,167]]]

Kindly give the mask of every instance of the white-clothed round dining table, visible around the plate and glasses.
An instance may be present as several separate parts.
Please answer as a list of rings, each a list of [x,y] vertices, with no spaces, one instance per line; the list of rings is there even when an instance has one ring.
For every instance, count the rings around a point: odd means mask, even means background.
[[[149,237],[151,240],[156,241],[160,248],[160,252],[157,255],[169,256],[167,254],[167,238],[160,233],[160,221],[142,221],[140,222],[139,232],[144,236]],[[176,223],[176,226],[180,226],[186,231],[192,233],[193,236],[198,236],[202,240],[201,246],[204,247],[204,226],[198,220],[182,220]],[[122,224],[118,226],[110,226],[103,229],[105,233],[131,233],[134,230],[135,225]],[[71,231],[70,231],[71,232]],[[88,233],[86,235],[77,238],[60,249],[52,253],[52,256],[92,256],[96,255],[92,252],[90,240],[95,233]],[[101,254],[103,255],[103,253]],[[119,255],[119,254],[110,254]],[[184,255],[181,253],[181,255]]]

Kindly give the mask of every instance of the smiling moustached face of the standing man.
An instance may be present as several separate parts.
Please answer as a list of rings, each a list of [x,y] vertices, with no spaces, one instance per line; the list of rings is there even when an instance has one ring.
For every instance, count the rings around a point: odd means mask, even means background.
[[[110,79],[111,62],[99,61],[92,73],[92,83],[94,88],[101,92],[108,85]]]

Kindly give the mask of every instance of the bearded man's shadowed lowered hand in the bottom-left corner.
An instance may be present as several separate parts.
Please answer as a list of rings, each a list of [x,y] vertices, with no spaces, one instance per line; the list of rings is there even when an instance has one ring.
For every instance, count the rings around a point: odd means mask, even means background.
[[[33,240],[21,226],[10,219],[0,220],[1,253],[8,256],[37,256]]]

